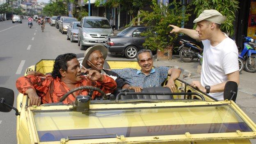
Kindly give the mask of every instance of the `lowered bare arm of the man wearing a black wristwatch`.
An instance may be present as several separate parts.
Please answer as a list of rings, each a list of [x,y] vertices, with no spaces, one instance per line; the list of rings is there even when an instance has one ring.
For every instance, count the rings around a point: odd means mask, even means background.
[[[239,72],[235,71],[233,73],[227,74],[227,79],[228,79],[227,81],[234,81],[234,82],[236,82],[239,85]],[[218,85],[210,86],[210,93],[224,91],[224,87],[225,87],[226,82],[222,82],[222,83],[220,83]],[[201,90],[201,91],[206,93],[206,89],[200,84],[199,81],[193,81],[191,83],[191,86],[192,87],[197,87],[199,90]]]

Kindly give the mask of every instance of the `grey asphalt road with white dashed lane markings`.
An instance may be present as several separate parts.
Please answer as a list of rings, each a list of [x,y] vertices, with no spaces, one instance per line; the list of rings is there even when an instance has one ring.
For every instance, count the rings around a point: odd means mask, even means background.
[[[46,24],[45,31],[33,22],[33,27],[23,23],[0,22],[0,87],[14,90],[16,79],[25,73],[28,66],[36,64],[41,59],[55,59],[63,53],[84,53],[77,43],[66,40],[66,34],[60,34],[55,27]],[[112,56],[108,59],[123,59],[121,56]],[[16,100],[14,101],[16,105]],[[16,116],[12,110],[0,114],[0,144],[15,144]]]

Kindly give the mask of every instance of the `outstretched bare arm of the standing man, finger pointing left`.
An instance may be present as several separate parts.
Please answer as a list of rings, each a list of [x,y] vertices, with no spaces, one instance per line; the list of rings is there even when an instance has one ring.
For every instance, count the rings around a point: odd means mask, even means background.
[[[170,32],[171,34],[182,32],[182,33],[188,35],[189,37],[191,37],[192,39],[200,40],[198,32],[196,30],[181,28],[181,27],[177,27],[175,25],[169,25],[169,26],[173,27],[173,29]]]

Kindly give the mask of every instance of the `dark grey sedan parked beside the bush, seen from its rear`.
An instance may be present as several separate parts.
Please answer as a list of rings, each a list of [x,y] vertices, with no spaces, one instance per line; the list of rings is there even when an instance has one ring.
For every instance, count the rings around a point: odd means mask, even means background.
[[[137,52],[143,49],[142,43],[145,37],[140,34],[146,30],[146,27],[135,26],[127,27],[115,36],[108,37],[105,47],[110,53],[125,55],[128,59],[136,57]]]

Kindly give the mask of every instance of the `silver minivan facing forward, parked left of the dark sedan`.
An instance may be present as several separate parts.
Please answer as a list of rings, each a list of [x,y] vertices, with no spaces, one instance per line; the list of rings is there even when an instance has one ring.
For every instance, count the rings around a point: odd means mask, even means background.
[[[106,37],[114,35],[107,18],[98,16],[85,16],[78,26],[78,46],[85,50],[90,46],[104,45]]]

